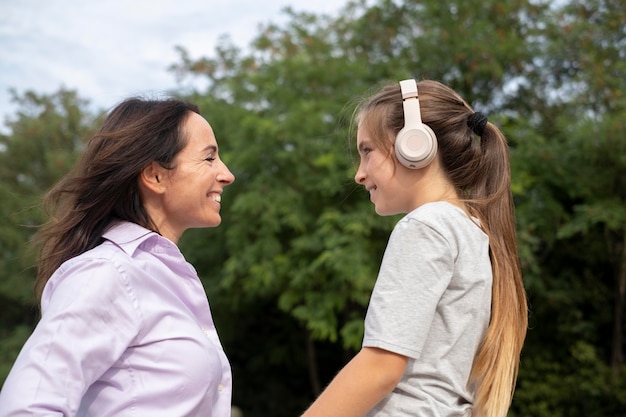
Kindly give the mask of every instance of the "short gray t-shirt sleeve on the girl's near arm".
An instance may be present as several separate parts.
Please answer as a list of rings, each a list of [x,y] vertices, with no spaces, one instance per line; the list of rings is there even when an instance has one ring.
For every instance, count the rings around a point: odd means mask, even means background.
[[[454,254],[444,236],[419,220],[401,220],[389,238],[370,298],[363,346],[418,359],[453,267]]]

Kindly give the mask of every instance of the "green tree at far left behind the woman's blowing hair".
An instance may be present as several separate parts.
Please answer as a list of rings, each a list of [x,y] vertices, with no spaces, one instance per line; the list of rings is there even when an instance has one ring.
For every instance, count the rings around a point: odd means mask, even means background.
[[[0,135],[1,380],[39,317],[29,242],[45,221],[41,198],[69,170],[94,119],[74,91],[14,93],[14,100],[19,109],[7,121],[10,133]]]

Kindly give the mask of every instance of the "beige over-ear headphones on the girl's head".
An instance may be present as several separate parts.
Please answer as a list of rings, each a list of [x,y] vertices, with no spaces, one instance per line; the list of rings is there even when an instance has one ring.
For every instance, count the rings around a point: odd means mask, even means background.
[[[437,137],[430,127],[422,123],[417,82],[400,81],[400,89],[404,108],[404,128],[396,135],[396,157],[407,168],[423,168],[437,155]]]

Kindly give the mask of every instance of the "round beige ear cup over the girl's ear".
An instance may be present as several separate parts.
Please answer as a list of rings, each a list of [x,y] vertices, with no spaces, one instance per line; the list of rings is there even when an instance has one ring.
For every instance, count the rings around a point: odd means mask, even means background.
[[[406,126],[396,136],[395,151],[398,161],[405,167],[423,168],[437,155],[435,133],[422,123],[417,126]]]

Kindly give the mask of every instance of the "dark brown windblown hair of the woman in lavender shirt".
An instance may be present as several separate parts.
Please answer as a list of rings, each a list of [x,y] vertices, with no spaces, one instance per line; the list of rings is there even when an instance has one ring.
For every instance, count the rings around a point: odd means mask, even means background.
[[[35,236],[38,299],[63,262],[102,242],[113,219],[158,232],[143,207],[138,176],[152,161],[171,167],[187,142],[182,126],[190,112],[198,108],[175,98],[129,98],[108,114],[74,169],[44,197],[49,221]]]

